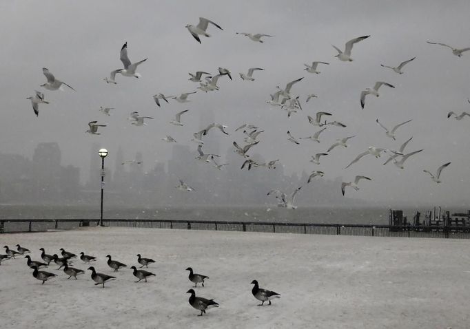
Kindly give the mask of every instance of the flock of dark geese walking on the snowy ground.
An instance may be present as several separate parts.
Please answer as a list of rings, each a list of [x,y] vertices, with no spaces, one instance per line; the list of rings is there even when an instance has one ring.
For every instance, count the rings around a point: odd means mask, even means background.
[[[54,255],[49,255],[45,253],[44,248],[39,248],[41,251],[41,261],[37,260],[32,260],[30,255],[25,255],[28,253],[31,253],[30,249],[24,248],[20,246],[19,244],[16,245],[17,250],[14,251],[13,249],[10,249],[8,246],[3,246],[5,248],[5,254],[0,254],[0,265],[2,261],[5,261],[7,259],[16,259],[16,257],[21,257],[23,256],[26,259],[26,265],[28,268],[32,269],[32,277],[34,279],[37,279],[41,281],[41,285],[43,285],[45,282],[47,282],[50,279],[53,279],[54,277],[58,277],[59,275],[56,273],[48,272],[46,270],[43,270],[43,268],[48,268],[49,266],[52,266],[51,263],[54,262],[54,264],[57,264],[59,267],[56,268],[55,270],[61,270],[63,268],[63,273],[65,275],[68,275],[67,279],[71,279],[72,277],[76,280],[78,279],[77,276],[85,274],[85,270],[82,270],[80,268],[74,268],[70,266],[72,262],[75,260],[80,259],[83,264],[88,264],[90,265],[92,262],[96,263],[98,262],[99,258],[92,256],[92,255],[85,255],[83,251],[79,253],[79,256],[77,256],[74,253],[71,253],[70,251],[65,251],[64,248],[60,248],[59,250],[61,251],[62,257],[59,257],[57,254]],[[143,280],[143,282],[147,282],[147,279],[150,279],[150,277],[156,277],[155,273],[152,273],[148,270],[143,270],[145,268],[148,268],[149,265],[152,265],[155,263],[154,259],[152,258],[145,258],[141,257],[141,254],[137,254],[137,263],[140,264],[139,269],[133,265],[130,266],[130,270],[132,270],[132,275],[136,277],[137,281],[134,281],[135,283],[139,283]],[[127,265],[118,262],[114,259],[112,259],[111,255],[106,255],[106,258],[108,258],[108,261],[106,264],[108,264],[108,267],[112,268],[114,273],[118,273],[120,269],[126,268]],[[41,268],[41,270],[39,270]],[[89,266],[87,270],[91,271],[91,279],[94,282],[95,286],[101,286],[102,288],[105,288],[105,284],[114,281],[118,277],[113,276],[113,275],[108,275],[105,273],[97,273],[96,269],[94,266]],[[205,280],[209,279],[207,275],[202,275],[198,273],[194,273],[192,267],[186,268],[186,270],[190,271],[190,274],[188,275],[188,279],[190,282],[194,283],[193,288],[197,288],[198,284],[201,284],[202,287],[204,287],[204,282]],[[117,274],[116,274],[117,275]],[[263,306],[265,301],[269,301],[269,305],[271,305],[271,301],[274,298],[280,298],[280,294],[275,293],[274,291],[259,288],[258,286],[258,281],[253,280],[251,284],[254,284],[252,288],[252,294],[254,298],[258,299],[261,301],[261,304],[258,304],[258,306]],[[190,299],[188,300],[190,306],[195,308],[196,310],[201,311],[201,314],[198,316],[202,316],[205,314],[205,311],[218,307],[219,304],[214,301],[214,299],[206,299],[204,297],[196,297],[196,292],[194,289],[187,290],[187,293],[191,294]]]

